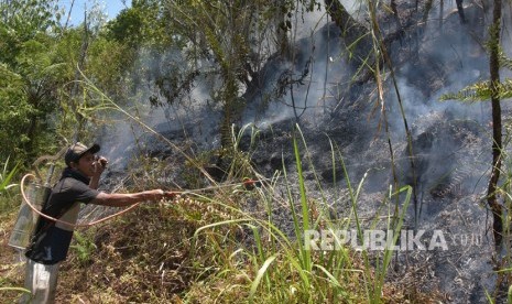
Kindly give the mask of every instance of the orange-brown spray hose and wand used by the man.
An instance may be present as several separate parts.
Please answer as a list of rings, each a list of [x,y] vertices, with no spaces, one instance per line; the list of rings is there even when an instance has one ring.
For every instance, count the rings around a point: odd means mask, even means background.
[[[33,174],[25,174],[23,176],[23,178],[21,178],[21,182],[20,182],[20,188],[21,188],[21,196],[23,197],[23,202],[26,203],[26,205],[29,205],[29,207],[34,211],[36,213],[37,215],[40,215],[41,217],[44,217],[46,219],[50,219],[52,221],[55,221],[55,222],[59,222],[59,224],[63,224],[63,225],[66,225],[70,228],[76,228],[76,227],[90,227],[90,226],[94,226],[94,225],[97,225],[97,224],[100,224],[102,221],[106,221],[108,219],[111,219],[113,217],[117,217],[117,216],[120,216],[122,214],[126,214],[128,213],[129,210],[135,208],[137,206],[139,206],[141,204],[141,202],[139,203],[135,203],[133,205],[131,205],[130,207],[126,208],[126,209],[122,209],[118,213],[115,213],[112,215],[109,215],[109,216],[106,216],[104,218],[100,218],[100,219],[97,219],[97,220],[92,220],[90,222],[69,222],[69,221],[66,221],[66,220],[61,220],[61,219],[57,219],[57,218],[54,218],[54,217],[51,217],[48,215],[45,215],[43,214],[42,211],[37,210],[37,208],[34,207],[34,205],[30,202],[29,197],[26,196],[25,194],[25,191],[24,191],[24,185],[25,185],[25,180],[28,177],[32,177],[33,180],[35,178],[35,175]],[[243,185],[243,187],[246,189],[252,189],[254,188],[254,186],[257,185],[259,181],[253,181],[253,180],[246,180],[241,183],[237,183],[237,184],[228,184],[228,185],[220,185],[220,186],[213,186],[213,187],[205,187],[205,188],[198,188],[198,189],[190,189],[190,191],[171,191],[171,192],[166,192],[167,194],[193,194],[193,193],[197,193],[197,192],[205,192],[205,191],[210,191],[210,189],[217,189],[217,188],[222,188],[222,187],[232,187],[232,186],[239,186],[239,185]]]

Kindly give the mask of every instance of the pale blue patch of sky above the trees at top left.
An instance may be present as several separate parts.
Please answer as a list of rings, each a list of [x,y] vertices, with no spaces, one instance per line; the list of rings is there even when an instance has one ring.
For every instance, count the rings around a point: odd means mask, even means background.
[[[116,15],[122,9],[131,6],[131,0],[58,0],[59,6],[65,9],[63,22],[66,22],[67,14],[72,8],[73,2],[74,4],[69,20],[69,24],[72,26],[78,25],[84,21],[85,8],[90,10],[95,2],[100,3],[101,7],[105,8],[105,12],[107,13],[109,20],[116,18]]]

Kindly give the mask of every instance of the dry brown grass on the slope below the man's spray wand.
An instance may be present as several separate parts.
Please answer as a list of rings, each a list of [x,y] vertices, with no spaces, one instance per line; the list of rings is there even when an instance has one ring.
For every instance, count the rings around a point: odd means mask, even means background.
[[[6,243],[15,210],[2,215],[1,236]],[[206,222],[232,218],[229,208],[220,208],[192,198],[163,204],[142,205],[110,222],[80,229],[80,241],[92,242],[88,259],[72,249],[63,263],[57,291],[58,303],[232,303],[247,301],[257,274],[249,254],[233,254],[250,241],[240,226],[227,225],[194,238]],[[3,245],[6,246],[6,245]],[[270,246],[270,243],[264,243]],[[6,246],[6,248],[8,248]],[[246,248],[248,251],[249,249]],[[14,251],[2,250],[2,286],[22,286],[23,265],[13,263]],[[314,254],[312,260],[319,261]],[[271,292],[259,293],[254,303],[287,298],[301,303],[308,298],[299,285],[299,273],[280,254],[270,274]],[[229,262],[228,262],[229,261]],[[351,254],[351,270],[344,279],[349,297],[333,297],[340,303],[366,302],[364,263]],[[283,278],[287,275],[287,278]],[[320,275],[320,273],[317,273]],[[420,282],[410,282],[418,284]],[[384,303],[433,303],[433,294],[412,294],[414,289],[385,284]],[[273,292],[277,294],[273,294]],[[281,294],[279,294],[281,293]],[[14,302],[19,292],[2,291],[0,296]],[[329,294],[325,295],[329,298]]]

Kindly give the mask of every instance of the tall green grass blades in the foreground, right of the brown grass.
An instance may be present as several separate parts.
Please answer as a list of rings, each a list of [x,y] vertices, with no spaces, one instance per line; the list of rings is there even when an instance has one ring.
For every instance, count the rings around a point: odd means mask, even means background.
[[[241,297],[249,303],[382,303],[385,276],[393,253],[391,247],[386,247],[380,254],[370,254],[364,247],[360,252],[356,252],[344,240],[335,237],[334,250],[312,250],[309,240],[305,237],[307,231],[312,230],[336,231],[356,227],[358,236],[362,239],[363,230],[371,228],[363,227],[358,215],[364,177],[353,185],[341,153],[333,151],[333,159],[341,164],[345,173],[351,210],[341,220],[331,218],[327,211],[329,202],[326,196],[320,199],[314,197],[314,193],[324,193],[319,181],[316,178],[313,182],[314,188],[311,188],[312,186],[304,178],[304,162],[309,169],[313,167],[313,171],[315,169],[298,127],[295,128],[292,145],[295,155],[295,175],[287,173],[283,165],[284,185],[264,183],[255,192],[244,193],[257,197],[259,202],[273,202],[284,208],[281,210],[283,213],[287,210],[292,219],[290,225],[280,222],[271,215],[261,218],[236,205],[229,206],[218,199],[198,197],[204,199],[204,204],[229,208],[232,215],[231,219],[200,227],[194,236],[196,245],[201,243],[201,247],[206,247],[205,241],[213,242],[214,248],[224,251],[219,254],[222,258],[217,259],[215,265],[217,270],[210,274],[215,279],[209,279],[216,282],[216,285],[224,282],[224,287],[218,294],[211,294],[215,289],[209,289],[211,298],[229,302]],[[316,176],[316,173],[313,175]],[[281,195],[283,193],[281,186],[285,188],[284,196]],[[389,240],[390,245],[396,243],[411,194],[412,188],[407,186],[397,191],[390,188],[386,197],[383,197],[383,206],[388,206],[388,229],[395,232],[393,239]],[[397,220],[392,217],[394,205],[388,204],[394,200],[395,196],[400,196],[403,200]],[[276,208],[266,208],[266,210],[272,213]],[[392,222],[396,224],[392,226]],[[232,232],[233,227],[250,234],[251,242],[239,242],[236,238],[227,241],[229,238],[227,231]],[[243,262],[233,263],[235,257]],[[199,296],[200,292],[197,289],[199,287],[190,290],[187,300],[206,301]]]

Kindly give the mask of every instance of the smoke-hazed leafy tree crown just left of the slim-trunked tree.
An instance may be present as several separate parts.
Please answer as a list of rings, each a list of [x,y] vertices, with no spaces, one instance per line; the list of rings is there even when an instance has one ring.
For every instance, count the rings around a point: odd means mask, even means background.
[[[181,50],[179,39],[170,33],[168,18],[165,15],[164,1],[138,0],[122,10],[110,21],[100,35],[101,43],[110,44],[113,50],[107,51],[111,61],[122,59],[120,66],[115,66],[112,77],[123,78],[123,88],[129,89],[120,97],[123,104],[130,95],[137,100],[148,98],[153,105],[159,104],[156,96],[140,97],[139,90],[151,83],[162,84],[168,75],[176,73],[178,65],[185,58],[176,59],[170,50]],[[99,43],[98,41],[98,43]],[[181,45],[179,45],[181,44]],[[107,48],[106,48],[107,50]],[[111,53],[113,51],[113,53]],[[116,54],[116,58],[112,57]],[[175,65],[176,67],[173,67]],[[172,99],[171,96],[168,96]]]

